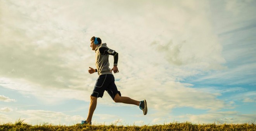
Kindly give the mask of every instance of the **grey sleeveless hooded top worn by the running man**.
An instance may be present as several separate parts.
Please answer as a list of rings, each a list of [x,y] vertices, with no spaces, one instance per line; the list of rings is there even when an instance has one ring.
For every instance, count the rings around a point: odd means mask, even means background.
[[[100,54],[99,48],[100,47],[107,47],[106,43],[100,44],[96,47],[95,53],[96,53],[96,61],[95,65],[98,71],[99,76],[103,74],[112,74],[111,69],[109,68],[109,55],[102,55]]]

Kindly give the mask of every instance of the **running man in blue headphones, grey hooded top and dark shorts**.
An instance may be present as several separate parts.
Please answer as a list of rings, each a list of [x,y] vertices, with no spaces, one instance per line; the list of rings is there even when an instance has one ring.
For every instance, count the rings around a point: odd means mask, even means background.
[[[94,86],[93,92],[91,94],[91,102],[89,106],[89,112],[86,121],[82,121],[81,124],[92,124],[92,115],[94,110],[96,109],[97,105],[97,98],[102,97],[104,92],[107,91],[109,96],[114,100],[114,102],[121,102],[125,104],[134,104],[142,109],[143,114],[147,114],[147,102],[146,100],[143,101],[136,101],[131,99],[130,97],[121,96],[120,91],[118,91],[115,79],[112,74],[118,73],[118,53],[115,50],[111,50],[107,47],[106,43],[101,43],[101,39],[99,37],[92,37],[91,38],[91,45],[90,47],[92,50],[95,50],[96,53],[96,69],[89,67],[90,69],[88,72],[93,74],[94,72],[98,72],[99,78],[96,81]],[[114,56],[114,67],[112,69],[109,68],[109,55]]]

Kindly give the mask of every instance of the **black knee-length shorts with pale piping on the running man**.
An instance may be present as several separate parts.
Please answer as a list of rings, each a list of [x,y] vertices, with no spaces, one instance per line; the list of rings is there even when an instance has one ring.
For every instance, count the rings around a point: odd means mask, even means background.
[[[119,94],[119,96],[121,96],[120,91],[118,91],[116,87],[115,78],[112,74],[104,74],[99,76],[91,96],[102,97],[104,91],[107,91],[107,93],[109,94],[109,96],[111,96],[113,100],[117,93]]]

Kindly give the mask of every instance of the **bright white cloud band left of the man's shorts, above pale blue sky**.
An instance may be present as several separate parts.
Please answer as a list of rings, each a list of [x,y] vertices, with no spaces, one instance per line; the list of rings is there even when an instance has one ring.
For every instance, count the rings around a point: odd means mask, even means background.
[[[56,102],[65,101],[66,99],[89,101],[89,97],[84,96],[90,96],[91,94],[91,91],[88,88],[83,89],[84,91],[78,89],[51,89],[49,91],[48,88],[44,88],[41,85],[31,83],[24,79],[0,78],[0,85],[9,89],[17,90],[22,94],[32,94],[40,99],[44,104],[55,104]],[[4,97],[3,100],[15,101],[14,99],[9,99],[7,97]]]

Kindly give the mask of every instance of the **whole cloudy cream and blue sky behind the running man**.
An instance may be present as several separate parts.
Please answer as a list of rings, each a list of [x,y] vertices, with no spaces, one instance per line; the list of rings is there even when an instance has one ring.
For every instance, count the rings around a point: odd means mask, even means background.
[[[256,121],[255,0],[0,0],[0,124],[85,120],[91,37],[119,54],[92,124]],[[109,57],[110,68],[114,59]]]

